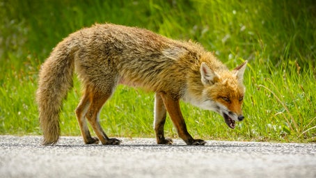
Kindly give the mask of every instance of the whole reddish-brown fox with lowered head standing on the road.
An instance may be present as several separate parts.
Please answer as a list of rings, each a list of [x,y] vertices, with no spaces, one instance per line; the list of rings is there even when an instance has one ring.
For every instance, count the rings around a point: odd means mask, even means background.
[[[234,129],[235,122],[244,120],[246,64],[247,60],[229,70],[198,42],[173,40],[139,27],[106,23],[80,29],[61,40],[40,67],[36,102],[42,145],[58,142],[59,113],[74,73],[83,89],[75,115],[85,144],[121,143],[104,133],[100,112],[116,87],[125,85],[155,93],[157,144],[173,144],[164,136],[168,113],[187,145],[205,145],[187,130],[180,101],[219,113]],[[97,137],[91,136],[88,124]]]

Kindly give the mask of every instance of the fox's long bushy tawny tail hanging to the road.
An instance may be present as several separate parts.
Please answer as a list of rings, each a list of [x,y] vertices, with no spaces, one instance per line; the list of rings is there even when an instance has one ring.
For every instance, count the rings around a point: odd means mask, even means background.
[[[74,73],[73,48],[69,44],[67,40],[59,43],[40,70],[36,101],[44,134],[42,145],[54,145],[60,136],[59,112],[72,88]]]

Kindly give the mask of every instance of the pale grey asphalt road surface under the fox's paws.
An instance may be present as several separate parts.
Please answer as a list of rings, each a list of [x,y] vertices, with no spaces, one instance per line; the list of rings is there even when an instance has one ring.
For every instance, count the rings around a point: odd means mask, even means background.
[[[40,136],[0,136],[0,177],[316,177],[316,144],[120,139],[104,146],[61,137],[44,147]]]

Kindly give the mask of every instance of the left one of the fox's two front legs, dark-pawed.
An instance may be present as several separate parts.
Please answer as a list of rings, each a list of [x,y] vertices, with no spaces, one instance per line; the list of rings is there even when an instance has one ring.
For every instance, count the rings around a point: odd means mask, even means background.
[[[166,107],[161,96],[155,95],[155,122],[154,129],[156,132],[157,144],[171,145],[173,140],[171,138],[164,138],[164,123],[166,122]]]

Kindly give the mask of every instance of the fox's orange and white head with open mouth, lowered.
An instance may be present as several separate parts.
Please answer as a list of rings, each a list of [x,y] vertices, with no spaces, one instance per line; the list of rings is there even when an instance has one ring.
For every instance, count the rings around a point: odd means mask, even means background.
[[[200,107],[223,116],[228,127],[234,129],[235,121],[244,120],[242,103],[245,87],[243,84],[246,63],[232,71],[212,70],[206,63],[200,65],[203,93]]]

